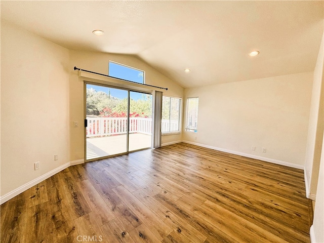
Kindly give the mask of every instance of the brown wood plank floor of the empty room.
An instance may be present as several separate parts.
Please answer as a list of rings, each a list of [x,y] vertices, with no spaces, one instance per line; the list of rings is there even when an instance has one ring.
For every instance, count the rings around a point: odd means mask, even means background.
[[[1,206],[1,242],[96,240],[310,242],[304,174],[179,143],[69,167]]]

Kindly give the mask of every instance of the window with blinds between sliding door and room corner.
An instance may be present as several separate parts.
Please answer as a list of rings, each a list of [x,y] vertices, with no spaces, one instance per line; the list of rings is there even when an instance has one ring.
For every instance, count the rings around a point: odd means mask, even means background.
[[[163,96],[161,133],[180,133],[181,99]]]

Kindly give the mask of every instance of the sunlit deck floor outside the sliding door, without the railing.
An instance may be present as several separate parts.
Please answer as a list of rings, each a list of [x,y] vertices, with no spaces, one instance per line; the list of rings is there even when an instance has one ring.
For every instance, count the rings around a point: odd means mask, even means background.
[[[151,147],[151,135],[131,133],[129,151]],[[126,134],[87,138],[87,159],[126,152]]]

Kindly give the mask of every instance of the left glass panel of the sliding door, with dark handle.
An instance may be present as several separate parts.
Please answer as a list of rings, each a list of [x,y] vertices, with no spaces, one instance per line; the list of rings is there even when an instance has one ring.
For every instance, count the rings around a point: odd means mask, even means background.
[[[86,84],[86,159],[128,152],[128,91]]]

